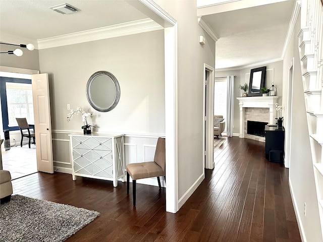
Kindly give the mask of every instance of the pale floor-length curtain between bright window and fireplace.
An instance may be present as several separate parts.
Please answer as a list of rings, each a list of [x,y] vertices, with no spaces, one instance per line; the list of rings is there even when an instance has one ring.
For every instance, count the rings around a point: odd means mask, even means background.
[[[234,76],[227,76],[227,136],[233,135]]]

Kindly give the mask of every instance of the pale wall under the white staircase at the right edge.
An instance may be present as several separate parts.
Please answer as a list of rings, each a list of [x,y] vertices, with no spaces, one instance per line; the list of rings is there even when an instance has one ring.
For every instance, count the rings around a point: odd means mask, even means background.
[[[295,58],[294,82],[292,89],[292,127],[290,130],[291,157],[289,183],[295,213],[301,229],[303,240],[322,241],[305,110],[304,90],[300,69],[300,58],[298,52],[297,34],[299,30],[300,16],[297,19],[293,32],[293,38],[289,43],[283,63],[283,105],[286,107],[288,74],[292,58]],[[284,110],[284,115],[286,115],[286,109]],[[306,216],[304,216],[304,203],[306,203]]]

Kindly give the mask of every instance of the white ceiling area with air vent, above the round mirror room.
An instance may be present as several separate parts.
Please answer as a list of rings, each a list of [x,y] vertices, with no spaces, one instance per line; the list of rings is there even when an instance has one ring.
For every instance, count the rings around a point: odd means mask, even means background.
[[[68,3],[80,12],[60,14],[49,7]],[[134,20],[147,16],[118,0],[12,0],[0,1],[0,32],[30,40],[49,38]]]

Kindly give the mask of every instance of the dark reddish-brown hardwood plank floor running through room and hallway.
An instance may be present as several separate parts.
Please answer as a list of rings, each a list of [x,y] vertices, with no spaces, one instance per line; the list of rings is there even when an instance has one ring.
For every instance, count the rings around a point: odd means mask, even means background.
[[[66,241],[301,241],[288,169],[264,158],[264,143],[228,138],[215,168],[176,213],[165,212],[165,189],[137,184],[137,206],[126,183],[64,173],[13,181],[14,194],[83,207],[100,216]],[[197,161],[200,162],[200,161]]]

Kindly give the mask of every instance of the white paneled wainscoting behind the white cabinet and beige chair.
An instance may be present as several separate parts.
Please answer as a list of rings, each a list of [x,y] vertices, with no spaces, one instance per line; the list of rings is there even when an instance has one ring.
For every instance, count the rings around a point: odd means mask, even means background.
[[[54,170],[57,172],[72,174],[70,139],[68,136],[72,133],[75,133],[75,131],[52,130],[53,164]],[[153,161],[158,137],[165,137],[165,135],[126,134],[125,164]],[[160,181],[161,186],[166,187],[164,177],[160,178]],[[158,186],[156,177],[139,179],[137,183]]]

